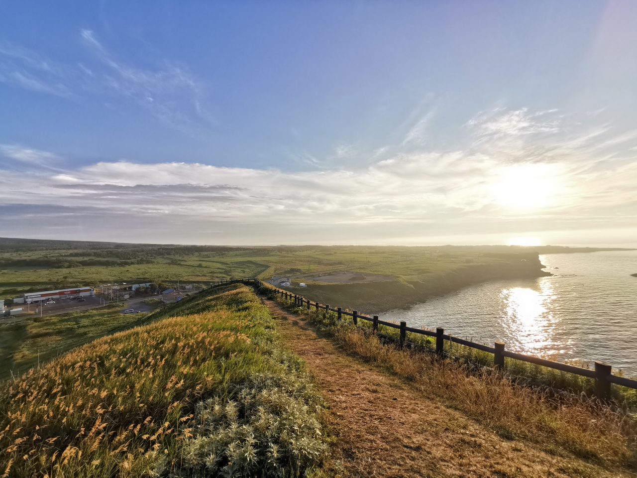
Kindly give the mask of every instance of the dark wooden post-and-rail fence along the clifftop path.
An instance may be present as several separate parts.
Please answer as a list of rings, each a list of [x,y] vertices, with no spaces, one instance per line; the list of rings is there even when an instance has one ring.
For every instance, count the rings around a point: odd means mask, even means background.
[[[237,282],[241,282],[243,284],[253,284],[254,286],[260,287],[264,285],[263,282],[259,279],[231,279],[231,280],[223,280],[221,282],[217,282],[217,284],[236,284]],[[325,310],[326,312],[336,312],[338,319],[340,320],[343,315],[347,315],[348,317],[352,317],[352,321],[354,325],[358,325],[358,321],[364,320],[372,322],[373,330],[378,333],[378,326],[384,325],[390,328],[394,328],[400,331],[398,344],[400,347],[404,347],[406,345],[415,345],[408,344],[407,332],[417,333],[420,335],[428,335],[429,337],[436,338],[436,354],[438,356],[443,356],[444,348],[445,348],[445,340],[449,342],[454,342],[454,344],[464,345],[466,347],[471,347],[473,349],[477,349],[483,352],[489,352],[493,354],[494,359],[493,363],[496,369],[502,369],[505,366],[505,357],[512,358],[515,360],[520,360],[523,362],[534,363],[536,365],[545,366],[548,368],[553,368],[555,370],[561,370],[562,372],[575,373],[575,375],[582,375],[583,377],[589,377],[595,380],[595,392],[598,398],[602,400],[610,399],[611,392],[611,384],[617,384],[624,387],[629,387],[632,389],[637,389],[637,380],[626,379],[624,377],[618,377],[617,375],[613,375],[612,366],[608,363],[602,361],[595,361],[595,369],[590,370],[588,368],[582,368],[574,365],[566,365],[565,363],[554,362],[552,360],[547,360],[539,357],[533,357],[530,355],[518,354],[516,352],[510,352],[506,350],[505,343],[497,341],[494,343],[493,347],[489,347],[489,345],[478,344],[476,342],[471,342],[470,340],[464,340],[462,338],[454,337],[453,335],[445,334],[445,329],[436,328],[436,331],[429,331],[423,329],[417,329],[413,327],[408,327],[406,322],[400,322],[400,324],[395,324],[394,322],[386,322],[378,319],[378,315],[374,315],[373,317],[367,317],[366,315],[359,314],[356,310],[352,312],[348,312],[347,310],[343,310],[340,307],[331,308],[329,305],[322,305],[318,302],[312,302],[309,299],[306,299],[300,295],[292,294],[283,289],[278,289],[274,286],[268,284],[269,287],[272,287],[274,293],[279,294],[281,298],[286,300],[291,300],[298,307],[307,307],[310,310],[311,307],[315,307],[316,310]]]

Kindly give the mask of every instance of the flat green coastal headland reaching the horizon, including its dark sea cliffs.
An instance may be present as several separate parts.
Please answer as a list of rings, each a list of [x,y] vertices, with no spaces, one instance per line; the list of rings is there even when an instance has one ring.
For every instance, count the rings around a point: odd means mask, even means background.
[[[106,284],[210,284],[238,277],[289,277],[311,300],[366,312],[496,279],[550,275],[540,254],[596,252],[561,246],[229,247],[0,238],[0,299]],[[299,287],[299,284],[306,287]],[[97,290],[96,289],[96,290]],[[6,305],[6,303],[5,303]]]

